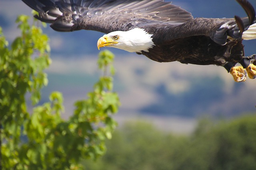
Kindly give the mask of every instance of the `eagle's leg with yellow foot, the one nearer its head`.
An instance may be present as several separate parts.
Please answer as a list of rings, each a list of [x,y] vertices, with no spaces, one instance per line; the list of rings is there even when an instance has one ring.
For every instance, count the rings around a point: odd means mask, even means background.
[[[247,72],[242,66],[234,66],[233,63],[227,62],[224,68],[233,76],[235,82],[244,82],[246,80]]]

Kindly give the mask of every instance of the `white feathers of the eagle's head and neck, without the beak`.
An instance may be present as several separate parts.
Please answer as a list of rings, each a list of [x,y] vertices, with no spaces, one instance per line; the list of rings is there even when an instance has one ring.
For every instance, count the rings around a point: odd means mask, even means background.
[[[120,35],[120,42],[113,46],[118,49],[141,53],[142,51],[148,52],[148,49],[154,46],[152,41],[153,34],[149,34],[141,28],[134,28],[129,31],[115,31],[113,33]]]

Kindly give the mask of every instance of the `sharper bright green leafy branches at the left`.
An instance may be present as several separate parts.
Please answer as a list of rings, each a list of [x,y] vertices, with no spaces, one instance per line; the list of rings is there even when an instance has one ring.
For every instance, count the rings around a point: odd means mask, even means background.
[[[112,137],[116,122],[111,117],[120,105],[112,92],[114,55],[100,53],[99,68],[104,75],[86,100],[77,101],[74,115],[61,118],[64,110],[60,92],[52,92],[49,102],[26,106],[26,94],[32,104],[40,101],[40,90],[48,83],[44,69],[49,66],[48,37],[27,16],[17,19],[22,35],[12,45],[0,28],[0,125],[1,164],[3,170],[82,169],[81,158],[96,159],[105,152],[105,140]]]

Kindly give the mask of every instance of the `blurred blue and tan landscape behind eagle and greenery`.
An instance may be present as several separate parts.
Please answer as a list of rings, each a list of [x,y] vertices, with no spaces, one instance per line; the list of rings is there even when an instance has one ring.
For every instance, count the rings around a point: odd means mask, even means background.
[[[256,7],[255,0],[250,2]],[[235,0],[174,0],[173,4],[194,18],[246,16]],[[20,14],[32,18],[31,9],[21,0],[0,0],[0,26],[10,43],[20,34],[15,24]],[[62,92],[63,117],[68,118],[74,102],[85,98],[98,79],[96,43],[103,33],[62,33],[49,25],[43,31],[50,37],[52,65],[46,70],[49,84],[43,89],[42,102],[48,101],[50,92]],[[256,53],[255,40],[244,41],[244,45],[246,55]],[[192,133],[200,117],[230,119],[256,112],[256,80],[236,83],[222,67],[157,63],[135,53],[108,50],[116,55],[114,91],[122,104],[116,115],[119,124],[146,120],[174,133]]]

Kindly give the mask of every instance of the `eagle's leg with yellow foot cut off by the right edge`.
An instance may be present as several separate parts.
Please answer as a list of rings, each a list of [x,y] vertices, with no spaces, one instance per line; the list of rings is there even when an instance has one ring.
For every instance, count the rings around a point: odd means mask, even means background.
[[[248,77],[251,79],[256,78],[256,66],[253,64],[256,61],[256,55],[244,57],[240,64],[246,69]]]

